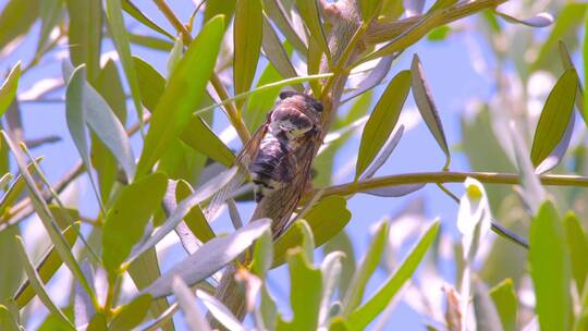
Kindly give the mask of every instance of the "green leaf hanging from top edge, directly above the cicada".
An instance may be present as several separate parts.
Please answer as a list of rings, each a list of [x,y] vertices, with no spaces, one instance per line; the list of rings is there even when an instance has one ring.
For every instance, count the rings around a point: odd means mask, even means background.
[[[237,0],[233,28],[235,94],[247,91],[255,77],[261,48],[262,19],[260,0]],[[241,108],[238,103],[237,107]]]

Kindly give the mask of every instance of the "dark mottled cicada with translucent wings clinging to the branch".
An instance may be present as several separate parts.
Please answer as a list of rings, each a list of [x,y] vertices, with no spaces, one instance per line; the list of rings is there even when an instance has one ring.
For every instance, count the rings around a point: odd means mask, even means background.
[[[295,179],[304,180],[303,185],[298,185],[302,187],[297,187],[299,198],[318,145],[321,112],[322,105],[309,95],[282,91],[266,122],[237,156],[234,176],[210,199],[207,216],[213,214],[247,179],[254,183],[258,204],[295,184]]]

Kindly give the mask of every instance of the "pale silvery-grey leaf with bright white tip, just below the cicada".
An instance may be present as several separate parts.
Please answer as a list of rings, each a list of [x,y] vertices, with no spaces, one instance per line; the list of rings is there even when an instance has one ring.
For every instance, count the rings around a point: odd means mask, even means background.
[[[269,229],[270,223],[269,219],[256,220],[228,236],[209,241],[143,292],[150,293],[154,297],[169,295],[175,277],[180,277],[188,285],[203,281],[240,256]]]

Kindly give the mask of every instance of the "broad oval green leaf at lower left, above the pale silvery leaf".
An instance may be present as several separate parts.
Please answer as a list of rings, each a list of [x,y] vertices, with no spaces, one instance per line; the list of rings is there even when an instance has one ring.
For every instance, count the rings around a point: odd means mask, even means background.
[[[102,259],[110,272],[119,267],[143,237],[145,226],[166,194],[168,181],[152,173],[124,187],[108,211],[102,236]]]

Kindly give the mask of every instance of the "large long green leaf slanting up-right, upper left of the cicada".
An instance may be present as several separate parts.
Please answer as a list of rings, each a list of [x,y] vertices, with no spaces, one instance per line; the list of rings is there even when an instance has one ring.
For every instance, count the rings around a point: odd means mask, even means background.
[[[215,69],[224,32],[222,16],[210,20],[189,45],[170,77],[151,117],[151,125],[137,166],[137,177],[147,174],[166,149],[180,136],[199,105]]]

